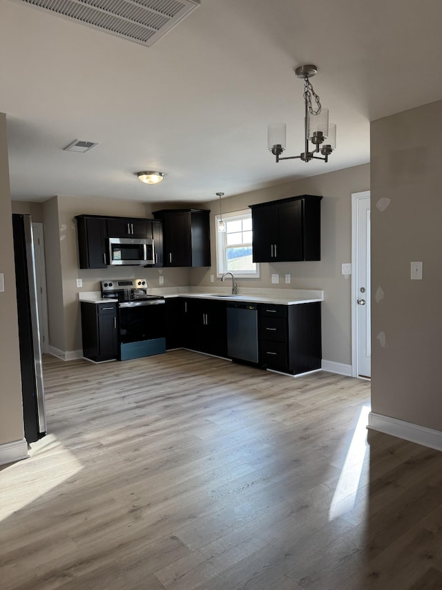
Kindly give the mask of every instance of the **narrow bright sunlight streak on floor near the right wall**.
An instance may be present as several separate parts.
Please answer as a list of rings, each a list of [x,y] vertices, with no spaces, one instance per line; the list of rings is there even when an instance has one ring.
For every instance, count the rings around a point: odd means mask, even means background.
[[[354,508],[365,452],[368,447],[367,423],[369,411],[370,409],[366,405],[361,409],[358,423],[354,429],[352,442],[350,443],[347,457],[345,457],[343,468],[340,472],[332,504],[330,504],[329,521],[334,520],[338,516],[345,515],[345,513],[348,513]]]

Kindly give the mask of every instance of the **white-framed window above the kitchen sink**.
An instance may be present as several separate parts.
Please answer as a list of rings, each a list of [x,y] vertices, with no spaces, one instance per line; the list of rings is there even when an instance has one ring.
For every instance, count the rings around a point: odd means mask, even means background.
[[[222,215],[225,232],[218,232],[220,216],[215,216],[218,277],[230,270],[236,277],[259,277],[259,266],[252,260],[251,211]]]

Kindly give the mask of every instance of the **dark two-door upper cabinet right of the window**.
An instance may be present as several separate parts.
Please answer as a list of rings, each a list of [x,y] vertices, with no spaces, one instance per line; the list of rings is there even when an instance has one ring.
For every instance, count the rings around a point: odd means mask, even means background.
[[[320,260],[320,200],[301,195],[249,205],[254,262]]]

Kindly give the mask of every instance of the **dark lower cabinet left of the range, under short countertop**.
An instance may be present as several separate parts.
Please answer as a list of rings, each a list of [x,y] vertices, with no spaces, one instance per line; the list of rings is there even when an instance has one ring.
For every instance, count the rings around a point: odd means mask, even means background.
[[[83,356],[100,362],[118,356],[117,304],[81,302]]]

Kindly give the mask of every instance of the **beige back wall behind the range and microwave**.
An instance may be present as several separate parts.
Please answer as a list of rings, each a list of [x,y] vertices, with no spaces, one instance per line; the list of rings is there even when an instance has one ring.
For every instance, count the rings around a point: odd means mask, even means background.
[[[56,196],[44,204],[45,238],[48,271],[49,341],[63,352],[81,350],[81,317],[78,294],[99,291],[102,279],[142,277],[150,287],[189,284],[188,268],[79,268],[76,215],[116,215],[152,217],[151,205],[135,201],[117,201],[95,197]],[[48,257],[50,260],[48,261]],[[77,288],[77,278],[83,286]]]

